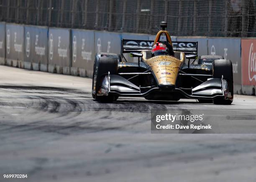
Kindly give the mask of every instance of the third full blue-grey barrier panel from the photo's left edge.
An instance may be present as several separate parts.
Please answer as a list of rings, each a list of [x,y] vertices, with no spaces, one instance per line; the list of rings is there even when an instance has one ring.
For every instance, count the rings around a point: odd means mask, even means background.
[[[70,29],[49,28],[48,71],[70,75]]]

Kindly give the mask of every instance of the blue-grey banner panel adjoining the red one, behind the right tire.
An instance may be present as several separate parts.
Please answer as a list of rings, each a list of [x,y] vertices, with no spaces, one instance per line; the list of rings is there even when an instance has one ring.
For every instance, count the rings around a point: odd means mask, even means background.
[[[234,85],[241,85],[241,39],[208,39],[209,55],[221,55],[233,64]],[[240,86],[241,87],[241,86]],[[240,90],[240,89],[239,89]]]

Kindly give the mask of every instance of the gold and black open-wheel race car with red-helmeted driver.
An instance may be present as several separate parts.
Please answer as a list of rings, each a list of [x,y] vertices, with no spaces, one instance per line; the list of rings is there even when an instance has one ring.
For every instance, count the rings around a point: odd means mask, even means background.
[[[223,56],[198,58],[198,42],[172,42],[161,22],[155,40],[122,40],[121,54],[95,56],[92,97],[113,102],[118,97],[230,105],[233,102],[233,68]],[[161,39],[160,39],[161,38]],[[130,54],[136,62],[128,62]],[[195,64],[197,62],[197,64]]]

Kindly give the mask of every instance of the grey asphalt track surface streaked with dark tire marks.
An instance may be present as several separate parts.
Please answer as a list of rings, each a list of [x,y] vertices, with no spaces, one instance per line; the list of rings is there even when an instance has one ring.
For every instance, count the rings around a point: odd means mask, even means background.
[[[152,108],[251,109],[91,97],[91,79],[0,66],[0,181],[256,182],[256,135],[151,134]],[[3,174],[27,174],[4,180]]]

